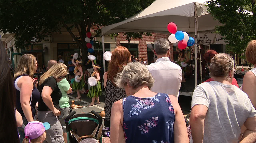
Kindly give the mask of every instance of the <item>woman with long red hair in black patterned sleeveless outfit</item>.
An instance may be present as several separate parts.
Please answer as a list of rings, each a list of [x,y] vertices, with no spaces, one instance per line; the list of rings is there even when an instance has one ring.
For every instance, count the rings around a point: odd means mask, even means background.
[[[108,65],[108,71],[104,73],[105,92],[105,127],[110,127],[110,115],[113,103],[127,97],[125,90],[115,85],[113,79],[118,73],[121,73],[124,66],[131,62],[131,54],[124,46],[118,46],[112,51],[111,62]]]

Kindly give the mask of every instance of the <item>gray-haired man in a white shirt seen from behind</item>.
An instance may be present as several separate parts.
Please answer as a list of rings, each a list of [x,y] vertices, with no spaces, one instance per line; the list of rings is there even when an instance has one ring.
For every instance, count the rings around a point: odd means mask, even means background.
[[[154,53],[157,56],[157,60],[147,66],[149,72],[155,79],[151,91],[170,94],[178,99],[182,71],[179,65],[171,62],[169,59],[169,41],[164,38],[157,39],[154,44]]]

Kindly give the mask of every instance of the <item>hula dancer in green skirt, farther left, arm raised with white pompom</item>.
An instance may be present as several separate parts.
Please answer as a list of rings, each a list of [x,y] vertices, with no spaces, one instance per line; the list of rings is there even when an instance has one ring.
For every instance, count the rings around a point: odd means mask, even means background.
[[[76,76],[75,76],[75,81],[72,85],[72,89],[76,90],[76,93],[77,93],[76,99],[79,99],[79,98],[81,98],[80,90],[83,89],[85,82],[84,82],[84,80],[82,80],[82,79],[84,79],[83,78],[83,69],[81,67],[82,61],[80,61],[80,59],[77,58],[76,54],[77,53],[74,54],[73,59],[72,59],[72,63],[76,66],[74,69],[74,74]],[[77,58],[76,62],[74,62],[75,58]]]

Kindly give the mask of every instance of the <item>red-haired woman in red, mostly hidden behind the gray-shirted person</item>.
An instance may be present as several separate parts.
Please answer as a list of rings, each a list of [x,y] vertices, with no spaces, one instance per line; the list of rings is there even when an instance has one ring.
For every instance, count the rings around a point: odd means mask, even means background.
[[[217,54],[218,54],[218,53],[217,53],[215,50],[208,50],[208,51],[205,52],[205,54],[204,54],[204,59],[205,59],[205,61],[208,63],[208,67],[210,66],[210,62],[211,62],[212,58],[213,58],[215,55],[217,55]],[[207,79],[207,80],[204,81],[204,82],[210,82],[210,81],[214,81],[214,79],[213,79],[213,78],[209,78],[209,79]],[[233,78],[231,84],[233,84],[233,85],[235,85],[236,87],[239,88],[239,86],[238,86],[237,81],[236,81],[235,78]]]

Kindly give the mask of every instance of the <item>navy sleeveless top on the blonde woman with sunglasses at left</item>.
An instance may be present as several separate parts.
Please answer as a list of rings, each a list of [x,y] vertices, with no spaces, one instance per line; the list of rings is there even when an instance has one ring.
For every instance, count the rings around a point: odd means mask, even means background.
[[[18,78],[16,78],[15,81],[14,81],[14,86],[16,88],[16,109],[20,112],[22,117],[25,117],[25,115],[23,113],[23,110],[21,108],[21,104],[20,104],[20,90],[21,89],[18,87],[18,81],[23,76],[28,76],[28,75],[18,76]],[[38,91],[38,89],[34,85],[33,90],[32,90],[32,94],[31,94],[30,99],[29,99],[29,103],[30,103],[30,106],[31,106],[31,111],[32,111],[33,117],[34,117],[35,113],[37,112],[36,103],[39,101],[40,96],[41,96],[40,92]]]

